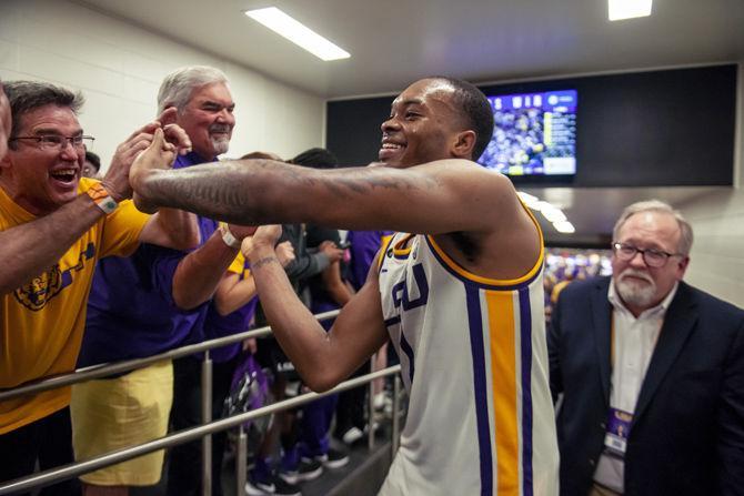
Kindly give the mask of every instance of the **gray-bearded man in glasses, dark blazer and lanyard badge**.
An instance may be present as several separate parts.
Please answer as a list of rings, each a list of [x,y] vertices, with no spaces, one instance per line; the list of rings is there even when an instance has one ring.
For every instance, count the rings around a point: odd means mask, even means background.
[[[741,495],[744,311],[682,281],[693,233],[670,205],[630,205],[613,237],[613,276],[552,315],[561,495]]]

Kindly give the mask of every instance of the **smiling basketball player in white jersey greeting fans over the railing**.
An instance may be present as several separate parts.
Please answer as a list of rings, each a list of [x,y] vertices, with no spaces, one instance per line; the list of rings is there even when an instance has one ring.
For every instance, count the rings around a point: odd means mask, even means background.
[[[242,224],[392,229],[366,284],[325,333],[274,252],[244,244],[269,322],[305,383],[333,387],[389,338],[410,393],[382,495],[556,495],[540,229],[512,183],[483,169],[491,107],[475,87],[418,81],[382,124],[381,163],[319,171],[265,160],[168,171],[151,146],[132,169],[142,209]]]

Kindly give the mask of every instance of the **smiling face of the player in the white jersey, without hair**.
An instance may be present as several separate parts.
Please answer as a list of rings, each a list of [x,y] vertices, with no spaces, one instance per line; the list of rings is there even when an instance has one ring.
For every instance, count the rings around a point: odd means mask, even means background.
[[[380,161],[408,168],[454,156],[452,146],[461,131],[461,115],[453,95],[452,85],[439,79],[424,79],[406,88],[382,123]]]

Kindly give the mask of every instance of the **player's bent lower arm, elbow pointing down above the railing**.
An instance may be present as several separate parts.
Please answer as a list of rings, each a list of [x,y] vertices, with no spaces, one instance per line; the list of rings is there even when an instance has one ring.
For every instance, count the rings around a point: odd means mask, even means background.
[[[346,304],[325,333],[296,297],[274,252],[281,229],[261,226],[245,256],[261,305],[274,336],[302,379],[313,391],[326,391],[351,375],[388,340],[376,277]]]

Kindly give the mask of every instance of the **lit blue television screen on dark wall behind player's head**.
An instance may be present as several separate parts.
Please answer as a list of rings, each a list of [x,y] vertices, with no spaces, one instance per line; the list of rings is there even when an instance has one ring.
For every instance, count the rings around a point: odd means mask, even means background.
[[[489,97],[493,136],[477,162],[525,181],[573,178],[576,100],[575,90]]]

